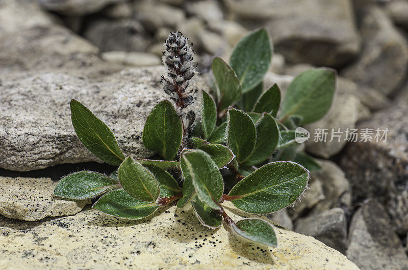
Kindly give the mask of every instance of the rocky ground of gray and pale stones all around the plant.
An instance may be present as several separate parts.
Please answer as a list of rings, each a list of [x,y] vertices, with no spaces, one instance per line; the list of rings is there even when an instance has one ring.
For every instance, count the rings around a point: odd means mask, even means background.
[[[71,98],[112,127],[126,154],[149,157],[141,134],[164,97],[157,65],[168,32],[194,43],[201,71],[195,87],[208,89],[212,57],[228,59],[261,26],[274,44],[266,86],[285,89],[314,66],[338,70],[331,109],[305,128],[389,130],[387,141],[305,143],[322,169],[294,209],[269,217],[296,232],[279,227],[278,249],[241,243],[224,228],[198,230],[188,209],[121,223],[89,209],[90,201],[52,197],[61,175],[113,169],[75,136]],[[210,262],[406,269],[407,104],[406,0],[0,0],[0,268]]]

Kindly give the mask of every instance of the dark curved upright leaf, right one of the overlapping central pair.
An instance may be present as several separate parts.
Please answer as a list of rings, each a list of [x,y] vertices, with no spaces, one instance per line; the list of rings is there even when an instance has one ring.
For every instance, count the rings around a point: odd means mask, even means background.
[[[269,158],[279,139],[279,130],[275,119],[269,113],[263,113],[255,127],[257,129],[257,142],[251,154],[242,161],[245,165],[255,165]]]

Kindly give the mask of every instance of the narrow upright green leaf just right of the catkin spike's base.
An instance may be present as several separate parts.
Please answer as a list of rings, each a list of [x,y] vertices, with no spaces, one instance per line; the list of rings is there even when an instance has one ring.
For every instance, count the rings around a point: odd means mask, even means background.
[[[215,123],[217,122],[217,109],[213,98],[207,94],[206,91],[202,91],[201,102],[201,125],[204,138],[210,137],[214,130]]]

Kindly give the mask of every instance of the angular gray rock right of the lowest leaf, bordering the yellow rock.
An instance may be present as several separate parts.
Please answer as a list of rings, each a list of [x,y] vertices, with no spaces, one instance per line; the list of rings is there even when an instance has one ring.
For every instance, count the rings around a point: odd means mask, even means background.
[[[330,248],[344,253],[347,239],[347,220],[344,210],[333,208],[317,215],[298,219],[295,231],[313,236]]]

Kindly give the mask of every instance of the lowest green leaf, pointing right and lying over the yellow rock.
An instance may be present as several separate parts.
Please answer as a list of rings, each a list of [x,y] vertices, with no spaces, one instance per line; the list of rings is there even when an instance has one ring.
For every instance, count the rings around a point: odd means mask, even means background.
[[[277,246],[277,239],[272,224],[262,219],[243,219],[232,224],[238,235],[260,244],[271,247]]]

